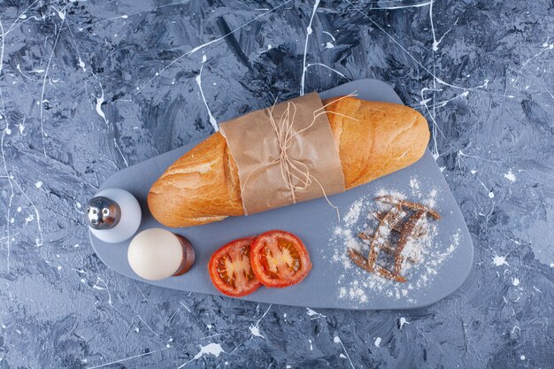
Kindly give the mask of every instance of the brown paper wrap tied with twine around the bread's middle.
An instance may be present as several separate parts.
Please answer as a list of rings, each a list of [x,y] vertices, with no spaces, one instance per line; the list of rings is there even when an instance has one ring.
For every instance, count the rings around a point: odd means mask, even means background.
[[[219,128],[238,167],[244,214],[344,192],[341,159],[317,93]]]

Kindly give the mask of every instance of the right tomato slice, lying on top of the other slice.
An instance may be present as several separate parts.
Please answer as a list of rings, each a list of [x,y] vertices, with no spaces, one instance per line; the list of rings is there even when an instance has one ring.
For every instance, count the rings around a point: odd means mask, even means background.
[[[252,271],[265,287],[296,284],[310,273],[312,263],[304,243],[289,232],[260,234],[250,250]]]

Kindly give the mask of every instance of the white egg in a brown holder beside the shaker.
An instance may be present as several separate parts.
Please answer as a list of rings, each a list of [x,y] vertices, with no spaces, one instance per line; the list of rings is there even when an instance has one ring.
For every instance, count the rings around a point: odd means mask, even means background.
[[[127,250],[133,271],[145,280],[159,281],[186,273],[194,263],[190,242],[164,228],[150,228],[135,235]]]

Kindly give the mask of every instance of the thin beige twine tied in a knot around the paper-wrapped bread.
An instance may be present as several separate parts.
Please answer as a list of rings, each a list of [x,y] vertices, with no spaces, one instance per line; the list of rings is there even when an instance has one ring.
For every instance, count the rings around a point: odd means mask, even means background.
[[[299,129],[296,132],[294,132],[294,129],[293,129],[296,122],[296,104],[292,101],[289,101],[287,103],[287,108],[285,109],[285,111],[281,113],[281,117],[279,117],[278,120],[275,120],[275,117],[273,115],[273,109],[277,104],[277,99],[275,99],[273,106],[271,108],[267,108],[267,112],[269,116],[269,124],[273,128],[273,132],[277,136],[277,143],[279,145],[279,155],[276,158],[268,161],[267,163],[262,163],[256,166],[254,169],[252,169],[248,174],[248,176],[246,177],[246,180],[244,180],[244,182],[242,183],[241,192],[246,187],[246,183],[250,180],[250,176],[252,175],[252,173],[258,171],[259,169],[265,168],[266,166],[279,164],[281,168],[282,180],[287,184],[290,190],[292,204],[296,204],[296,201],[297,201],[296,191],[309,188],[310,186],[312,186],[313,181],[315,181],[319,185],[319,188],[321,188],[321,192],[323,193],[323,196],[327,200],[327,204],[331,205],[331,207],[335,209],[337,213],[337,217],[340,220],[340,212],[338,207],[336,207],[334,204],[331,203],[331,201],[327,197],[325,188],[323,188],[323,186],[318,181],[318,179],[310,173],[310,168],[308,167],[308,165],[304,164],[302,161],[296,158],[292,158],[289,155],[288,150],[290,146],[293,144],[294,138],[296,137],[296,135],[300,135],[303,132],[307,131],[308,129],[312,128],[313,125],[316,123],[316,120],[319,118],[319,116],[323,114],[331,113],[348,119],[358,120],[346,114],[342,114],[336,111],[326,111],[325,109],[328,105],[335,104],[337,101],[340,101],[350,96],[358,96],[358,94],[356,94],[356,91],[354,91],[349,95],[341,96],[338,99],[333,100],[331,103],[325,104],[319,109],[316,109],[315,111],[313,111],[312,122],[308,126],[302,129]],[[295,181],[298,184],[295,184]]]

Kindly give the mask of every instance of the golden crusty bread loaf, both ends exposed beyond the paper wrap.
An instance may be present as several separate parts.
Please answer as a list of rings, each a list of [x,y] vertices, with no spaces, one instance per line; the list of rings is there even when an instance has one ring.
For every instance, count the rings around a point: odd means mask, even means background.
[[[426,119],[404,105],[346,97],[326,110],[354,118],[327,113],[346,189],[412,165],[427,147]],[[238,170],[225,138],[217,132],[169,166],[150,188],[148,206],[167,227],[242,215]]]

